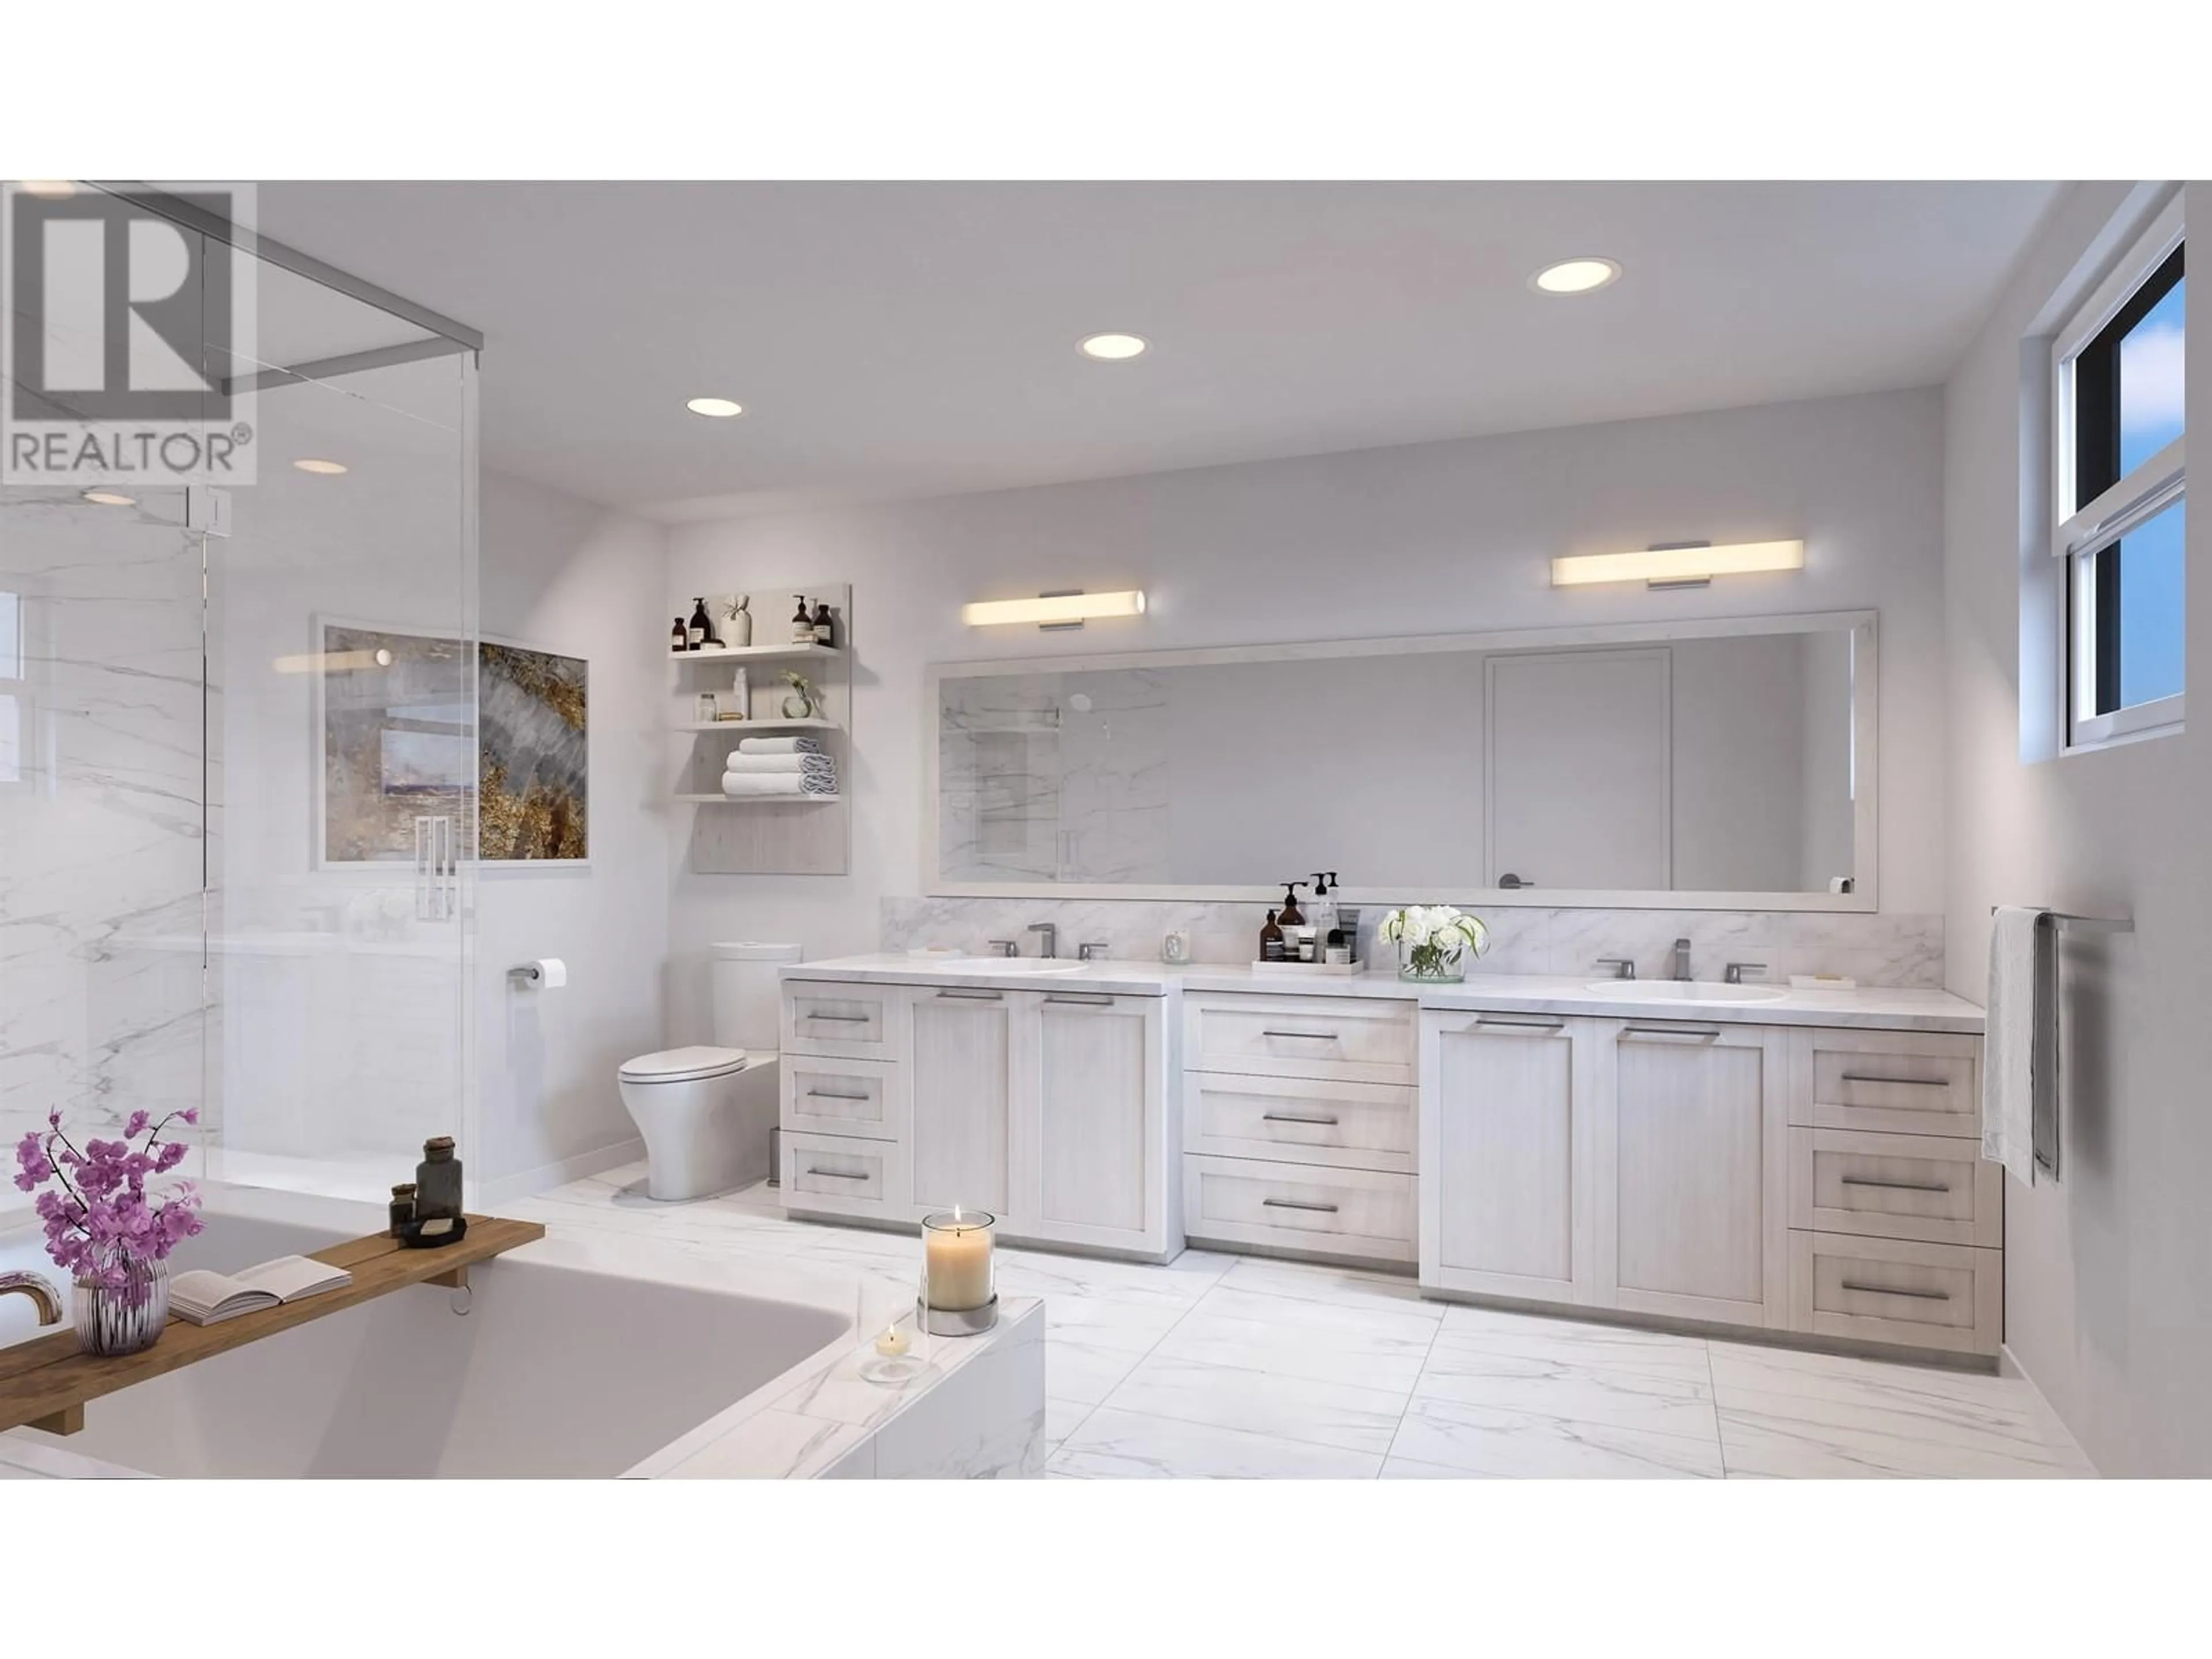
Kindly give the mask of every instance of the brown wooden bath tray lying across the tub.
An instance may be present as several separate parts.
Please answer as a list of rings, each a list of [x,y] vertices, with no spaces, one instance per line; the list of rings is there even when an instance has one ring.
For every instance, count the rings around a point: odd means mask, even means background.
[[[221,1325],[192,1325],[173,1314],[161,1340],[139,1354],[119,1358],[80,1354],[75,1332],[55,1332],[0,1347],[0,1429],[29,1422],[49,1433],[75,1433],[84,1427],[84,1402],[97,1400],[102,1394],[115,1394],[215,1354],[259,1343],[263,1336],[305,1325],[310,1318],[358,1307],[405,1285],[460,1290],[469,1283],[469,1263],[491,1261],[544,1237],[546,1230],[535,1221],[502,1221],[482,1214],[469,1217],[469,1232],[460,1243],[440,1250],[407,1250],[398,1239],[372,1232],[367,1239],[347,1239],[343,1245],[310,1252],[314,1261],[352,1272],[352,1285],[263,1307],[257,1314],[239,1314]]]

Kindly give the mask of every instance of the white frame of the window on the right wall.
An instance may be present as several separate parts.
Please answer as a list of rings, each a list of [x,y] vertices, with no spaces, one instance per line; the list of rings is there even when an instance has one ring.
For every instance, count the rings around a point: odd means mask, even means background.
[[[2150,460],[2097,495],[2075,502],[2075,358],[2104,332],[2135,292],[2157,274],[2174,248],[2188,239],[2183,199],[2174,197],[2150,228],[2119,257],[2112,272],[2090,292],[2051,343],[2051,555],[2064,560],[2059,606],[2059,686],[2066,697],[2068,754],[2181,730],[2188,690],[2099,714],[2095,708],[2095,555],[2188,495],[2188,429]]]

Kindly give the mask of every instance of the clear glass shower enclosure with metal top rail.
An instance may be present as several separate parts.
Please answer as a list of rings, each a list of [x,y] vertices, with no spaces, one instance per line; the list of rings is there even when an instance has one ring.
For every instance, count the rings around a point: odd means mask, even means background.
[[[197,1106],[204,1177],[383,1199],[476,1139],[480,338],[104,195],[250,281],[254,476],[0,484],[0,1141]]]

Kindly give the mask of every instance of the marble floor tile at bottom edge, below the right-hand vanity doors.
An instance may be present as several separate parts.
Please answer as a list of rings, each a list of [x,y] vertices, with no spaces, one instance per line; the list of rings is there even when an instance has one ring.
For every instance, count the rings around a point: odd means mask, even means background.
[[[1533,1411],[1413,1398],[1394,1460],[1442,1464],[1473,1475],[1531,1480],[1717,1478],[1721,1442],[1708,1436],[1652,1433],[1606,1422],[1571,1422]]]

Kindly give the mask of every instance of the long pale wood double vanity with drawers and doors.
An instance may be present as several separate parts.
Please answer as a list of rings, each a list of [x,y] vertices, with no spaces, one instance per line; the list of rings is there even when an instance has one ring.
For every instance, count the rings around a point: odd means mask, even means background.
[[[1940,991],[854,958],[783,984],[783,1203],[1993,1356],[1980,1011]]]

